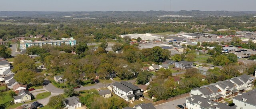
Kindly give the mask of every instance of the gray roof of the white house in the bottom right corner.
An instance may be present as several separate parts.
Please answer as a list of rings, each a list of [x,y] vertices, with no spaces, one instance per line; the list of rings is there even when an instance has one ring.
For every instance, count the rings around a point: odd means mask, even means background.
[[[242,95],[238,95],[238,96],[234,97],[233,99],[236,99],[241,102],[249,103],[252,105],[256,105],[256,96],[255,95],[256,95],[256,89],[248,91],[246,93],[242,93]],[[247,99],[247,100],[243,101],[243,98]]]

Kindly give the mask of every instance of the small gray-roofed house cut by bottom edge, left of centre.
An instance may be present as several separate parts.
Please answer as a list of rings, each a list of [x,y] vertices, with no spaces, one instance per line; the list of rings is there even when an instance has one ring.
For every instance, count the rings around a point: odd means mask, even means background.
[[[64,101],[64,105],[68,109],[76,109],[76,108],[82,107],[82,103],[80,102],[80,99],[75,96],[66,98]]]

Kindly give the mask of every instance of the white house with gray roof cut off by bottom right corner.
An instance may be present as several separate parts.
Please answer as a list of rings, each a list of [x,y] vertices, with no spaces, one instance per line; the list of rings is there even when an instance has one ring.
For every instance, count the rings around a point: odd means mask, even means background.
[[[236,109],[256,109],[256,89],[233,97],[233,103]]]

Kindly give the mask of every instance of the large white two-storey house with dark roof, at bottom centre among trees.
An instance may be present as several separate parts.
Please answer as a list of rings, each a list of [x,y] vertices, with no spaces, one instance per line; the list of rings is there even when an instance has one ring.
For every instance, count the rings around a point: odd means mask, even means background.
[[[112,92],[126,101],[135,101],[142,99],[143,93],[138,86],[125,81],[114,82]]]

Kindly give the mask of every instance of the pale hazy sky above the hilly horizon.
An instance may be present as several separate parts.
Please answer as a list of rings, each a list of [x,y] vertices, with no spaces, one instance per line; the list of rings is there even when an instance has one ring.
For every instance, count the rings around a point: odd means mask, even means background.
[[[0,0],[0,11],[256,11],[256,0]]]

